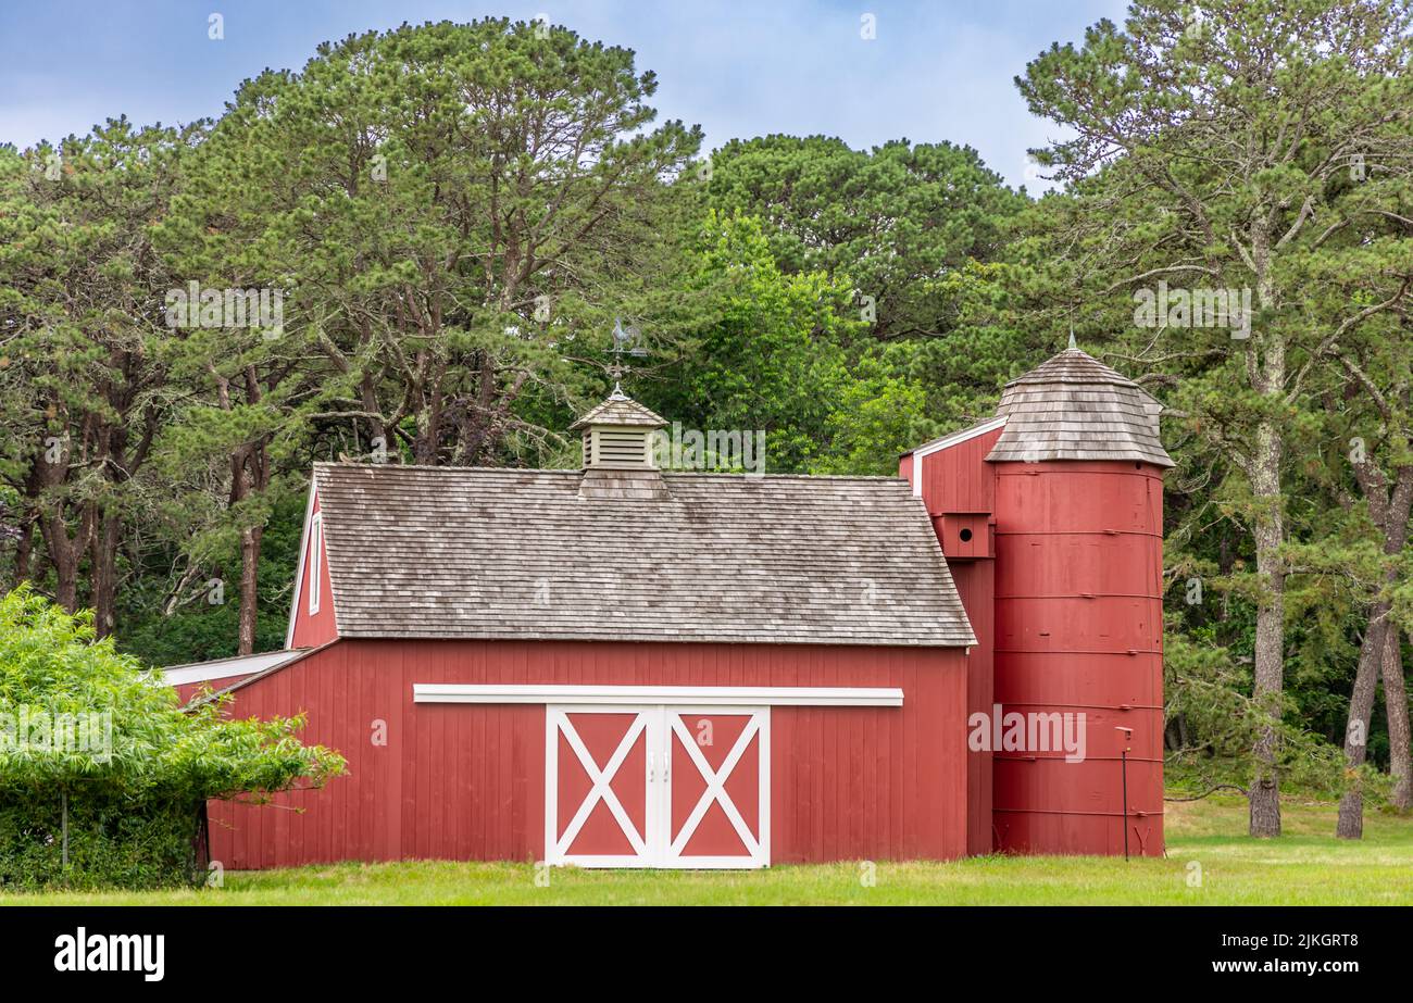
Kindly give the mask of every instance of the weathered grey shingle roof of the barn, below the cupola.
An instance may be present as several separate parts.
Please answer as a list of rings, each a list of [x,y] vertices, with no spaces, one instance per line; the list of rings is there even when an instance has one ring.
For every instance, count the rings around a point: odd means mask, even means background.
[[[315,465],[342,637],[975,644],[907,482]]]

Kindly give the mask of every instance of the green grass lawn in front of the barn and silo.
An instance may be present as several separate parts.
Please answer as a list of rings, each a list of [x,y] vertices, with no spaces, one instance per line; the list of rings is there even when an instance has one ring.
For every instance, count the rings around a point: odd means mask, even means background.
[[[979,857],[880,863],[866,886],[858,863],[763,872],[562,869],[548,887],[533,865],[417,862],[333,865],[226,874],[201,891],[0,896],[0,904],[90,906],[1048,906],[1048,904],[1413,904],[1413,819],[1366,812],[1362,842],[1335,839],[1335,807],[1287,801],[1286,833],[1256,841],[1246,802],[1167,805],[1169,857]],[[1201,884],[1188,876],[1201,867]]]

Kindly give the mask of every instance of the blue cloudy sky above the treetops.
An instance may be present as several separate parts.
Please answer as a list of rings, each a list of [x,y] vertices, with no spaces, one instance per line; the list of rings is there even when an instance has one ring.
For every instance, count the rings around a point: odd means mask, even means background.
[[[298,69],[321,41],[370,28],[547,17],[632,48],[639,71],[657,73],[658,119],[699,124],[706,148],[769,133],[856,148],[948,140],[1034,194],[1047,185],[1026,150],[1060,131],[1029,113],[1015,76],[1051,42],[1080,42],[1123,10],[1125,0],[0,0],[0,143],[25,148],[119,114],[219,116],[242,81]],[[212,13],[223,38],[209,38]]]

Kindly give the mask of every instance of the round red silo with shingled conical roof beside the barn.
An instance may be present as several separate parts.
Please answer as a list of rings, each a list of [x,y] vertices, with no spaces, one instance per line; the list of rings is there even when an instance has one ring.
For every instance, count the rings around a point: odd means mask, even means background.
[[[1074,348],[998,408],[995,701],[1026,736],[993,753],[998,850],[1163,852],[1157,411]]]

